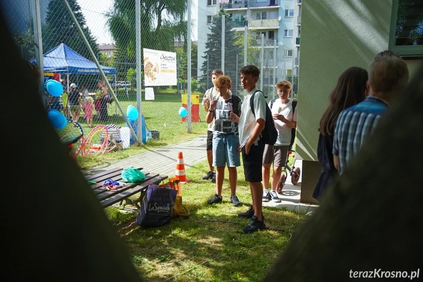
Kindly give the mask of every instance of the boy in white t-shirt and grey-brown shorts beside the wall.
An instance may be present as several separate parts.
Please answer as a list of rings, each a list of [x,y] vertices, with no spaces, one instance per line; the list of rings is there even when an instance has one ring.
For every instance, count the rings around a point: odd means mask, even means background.
[[[277,130],[277,139],[274,145],[264,147],[263,154],[263,202],[272,200],[279,203],[280,199],[276,192],[276,186],[279,183],[282,167],[285,166],[286,157],[288,155],[291,143],[292,128],[297,128],[297,111],[295,110],[297,102],[289,99],[291,94],[291,82],[287,80],[280,81],[276,84],[277,95],[279,99],[269,102],[272,111],[274,126]],[[272,190],[269,192],[270,167],[273,163],[272,174]]]

